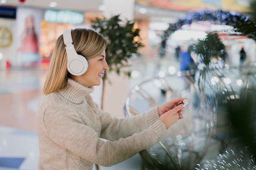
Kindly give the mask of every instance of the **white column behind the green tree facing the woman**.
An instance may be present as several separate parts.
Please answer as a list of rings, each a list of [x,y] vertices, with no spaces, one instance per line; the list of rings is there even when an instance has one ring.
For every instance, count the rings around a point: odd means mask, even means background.
[[[106,18],[120,14],[120,19],[134,20],[135,0],[103,0],[106,10],[103,15]],[[106,54],[108,57],[108,54]],[[124,74],[118,76],[115,72],[108,74],[111,84],[106,81],[103,98],[103,110],[112,116],[122,118],[124,114],[125,98],[129,91],[129,79]]]

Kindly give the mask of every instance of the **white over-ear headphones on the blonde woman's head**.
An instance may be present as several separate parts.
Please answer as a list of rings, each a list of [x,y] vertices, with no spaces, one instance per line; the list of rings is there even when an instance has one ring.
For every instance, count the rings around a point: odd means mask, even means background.
[[[80,76],[88,69],[88,61],[84,56],[76,53],[72,44],[71,30],[68,29],[63,33],[63,40],[67,51],[67,70],[74,76]]]

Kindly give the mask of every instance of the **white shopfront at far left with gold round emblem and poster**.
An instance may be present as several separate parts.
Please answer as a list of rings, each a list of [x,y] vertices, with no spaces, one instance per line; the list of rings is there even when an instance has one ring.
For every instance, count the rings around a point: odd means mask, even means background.
[[[13,17],[0,16],[0,69],[39,66],[40,22],[44,11],[28,7],[2,8],[5,8],[2,13],[12,13]]]

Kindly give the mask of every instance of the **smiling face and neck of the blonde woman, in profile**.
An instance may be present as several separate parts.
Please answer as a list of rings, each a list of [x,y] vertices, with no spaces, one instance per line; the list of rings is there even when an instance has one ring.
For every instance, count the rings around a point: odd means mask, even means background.
[[[87,71],[83,75],[74,78],[74,80],[85,87],[100,85],[104,72],[109,69],[106,62],[106,51],[104,50],[99,56],[87,59],[87,61]]]

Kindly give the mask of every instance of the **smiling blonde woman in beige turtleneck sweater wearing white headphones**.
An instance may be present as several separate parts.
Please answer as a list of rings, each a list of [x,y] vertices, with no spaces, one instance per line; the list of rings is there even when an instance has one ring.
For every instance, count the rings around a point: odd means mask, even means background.
[[[182,105],[171,108],[184,98],[125,119],[112,118],[103,112],[90,94],[109,69],[106,40],[89,29],[65,31],[63,35],[54,47],[44,86],[45,97],[36,118],[40,150],[38,170],[92,170],[93,163],[113,166],[159,142],[166,130],[183,118]],[[75,51],[70,51],[72,48]],[[72,53],[86,58],[85,73],[70,66],[76,62],[70,59]]]

